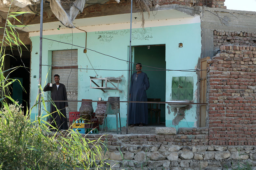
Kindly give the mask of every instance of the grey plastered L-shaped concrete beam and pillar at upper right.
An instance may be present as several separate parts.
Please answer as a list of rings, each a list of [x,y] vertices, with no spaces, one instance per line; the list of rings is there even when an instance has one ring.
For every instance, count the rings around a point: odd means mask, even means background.
[[[214,55],[213,30],[255,32],[256,12],[197,7],[201,17],[201,58]]]

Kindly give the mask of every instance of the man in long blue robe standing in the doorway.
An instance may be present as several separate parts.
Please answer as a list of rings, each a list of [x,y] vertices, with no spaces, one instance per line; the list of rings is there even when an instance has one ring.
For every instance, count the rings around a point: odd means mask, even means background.
[[[149,88],[148,76],[141,71],[141,64],[136,64],[136,73],[132,74],[130,101],[147,102],[146,90]],[[148,103],[129,103],[129,124],[148,124]]]

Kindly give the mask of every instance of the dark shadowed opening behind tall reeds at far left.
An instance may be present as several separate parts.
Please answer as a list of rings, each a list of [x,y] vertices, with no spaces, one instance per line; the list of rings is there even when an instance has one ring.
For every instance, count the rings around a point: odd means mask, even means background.
[[[12,99],[18,101],[19,104],[24,106],[23,111],[24,114],[27,111],[27,107],[29,109],[29,96],[30,96],[30,45],[26,46],[27,49],[24,47],[22,48],[22,55],[20,56],[20,52],[17,49],[12,48],[12,50],[6,50],[5,58],[5,67],[4,69],[7,70],[9,68],[15,68],[10,73],[8,78],[11,79],[18,79],[22,84],[15,81],[12,83],[10,88],[10,95]]]

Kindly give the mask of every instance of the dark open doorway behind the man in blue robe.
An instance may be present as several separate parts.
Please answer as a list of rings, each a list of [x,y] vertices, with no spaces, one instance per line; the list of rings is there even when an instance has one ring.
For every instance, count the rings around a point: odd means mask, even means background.
[[[149,80],[149,89],[147,90],[148,99],[160,99],[160,101],[165,102],[165,45],[134,46],[132,50],[132,61],[134,63],[141,63],[142,65],[146,66],[164,68],[162,71],[159,71],[159,69],[156,68],[142,66],[142,71],[148,75]],[[132,65],[132,70],[136,70],[135,64]],[[133,72],[134,71],[132,71],[132,73]],[[161,114],[159,119],[156,112],[153,111],[152,114],[149,112],[148,125],[156,125],[158,123],[165,125],[165,104],[159,104],[159,106],[153,104],[151,107],[159,107],[159,109],[161,109]]]

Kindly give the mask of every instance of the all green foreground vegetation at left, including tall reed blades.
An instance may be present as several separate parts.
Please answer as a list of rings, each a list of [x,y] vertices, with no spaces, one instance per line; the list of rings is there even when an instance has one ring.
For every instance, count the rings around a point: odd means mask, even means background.
[[[51,125],[45,119],[51,113],[46,109],[43,93],[40,98],[42,103],[38,102],[38,95],[31,110],[42,104],[42,111],[45,111],[46,115],[39,116],[36,120],[30,119],[28,109],[24,114],[22,106],[10,97],[10,85],[14,81],[20,81],[9,79],[10,73],[5,75],[17,69],[4,70],[4,58],[7,56],[5,46],[12,49],[15,45],[21,53],[21,46],[24,44],[15,31],[15,27],[18,26],[12,25],[9,21],[9,18],[19,21],[16,16],[21,14],[23,13],[8,13],[3,38],[0,41],[0,169],[104,169],[109,165],[102,157],[102,148],[106,148],[105,143],[101,141],[102,137],[89,140],[86,135],[82,136],[73,130],[50,131]]]

